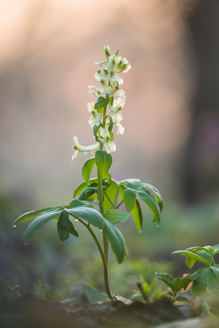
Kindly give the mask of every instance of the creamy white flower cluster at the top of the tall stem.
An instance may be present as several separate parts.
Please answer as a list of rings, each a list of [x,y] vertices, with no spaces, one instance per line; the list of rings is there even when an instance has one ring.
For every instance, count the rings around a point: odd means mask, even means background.
[[[96,140],[99,142],[91,145],[91,146],[80,146],[77,137],[74,137],[75,146],[73,149],[75,150],[74,155],[72,156],[72,160],[77,157],[78,152],[83,152],[87,154],[88,152],[92,153],[92,150],[97,148],[100,143],[103,144],[104,148],[106,149],[107,153],[115,152],[116,145],[112,142],[114,135],[111,133],[112,127],[110,128],[110,122],[112,121],[113,125],[117,125],[117,134],[123,134],[124,128],[121,125],[122,114],[121,110],[125,105],[125,92],[120,89],[120,85],[123,84],[123,79],[118,76],[120,72],[126,73],[130,70],[131,65],[128,63],[126,58],[123,59],[119,56],[117,57],[117,53],[115,55],[110,54],[110,47],[104,47],[104,53],[106,55],[106,61],[101,63],[94,63],[95,65],[101,66],[101,70],[96,72],[94,77],[100,83],[100,87],[96,87],[93,85],[89,85],[89,93],[94,94],[97,98],[102,97],[105,99],[109,99],[109,110],[110,113],[106,115],[106,108],[95,108],[95,102],[92,101],[91,103],[88,102],[87,109],[88,112],[92,115],[88,122],[92,128],[96,125],[99,127],[98,136],[95,135]],[[114,96],[118,96],[117,99]],[[109,118],[107,118],[107,116]],[[108,127],[107,127],[108,126]],[[93,154],[93,153],[92,153]]]

